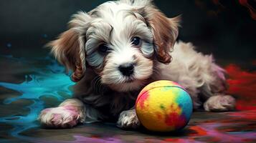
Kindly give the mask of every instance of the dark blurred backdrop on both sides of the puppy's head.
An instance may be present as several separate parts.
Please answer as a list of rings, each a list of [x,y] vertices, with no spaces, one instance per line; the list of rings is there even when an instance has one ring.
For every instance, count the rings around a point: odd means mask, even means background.
[[[242,0],[241,0],[242,1]],[[47,41],[67,29],[70,16],[104,0],[1,0],[0,54],[46,56]],[[255,7],[255,0],[248,0]],[[182,14],[179,39],[191,41],[222,63],[255,63],[256,19],[239,0],[156,0],[169,17]]]

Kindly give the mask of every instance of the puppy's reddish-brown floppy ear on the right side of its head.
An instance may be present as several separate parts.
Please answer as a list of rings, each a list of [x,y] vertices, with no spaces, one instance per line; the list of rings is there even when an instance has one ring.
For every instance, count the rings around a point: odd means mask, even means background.
[[[179,34],[180,16],[168,19],[152,5],[146,6],[143,11],[146,14],[144,17],[152,29],[156,58],[158,61],[167,64],[171,62],[170,52]]]

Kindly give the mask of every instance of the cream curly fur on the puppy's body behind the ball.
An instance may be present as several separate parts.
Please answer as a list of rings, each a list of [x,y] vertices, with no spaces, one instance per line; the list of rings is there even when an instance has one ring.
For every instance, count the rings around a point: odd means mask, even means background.
[[[215,84],[215,80],[219,78],[217,76],[223,78],[224,69],[214,64],[212,55],[196,52],[191,43],[176,42],[171,56],[173,60],[170,64],[158,64],[160,74],[155,78],[168,79],[181,84],[191,95],[194,108],[199,107],[202,104],[198,98],[201,87],[209,88],[210,85]],[[220,75],[214,70],[219,71]]]

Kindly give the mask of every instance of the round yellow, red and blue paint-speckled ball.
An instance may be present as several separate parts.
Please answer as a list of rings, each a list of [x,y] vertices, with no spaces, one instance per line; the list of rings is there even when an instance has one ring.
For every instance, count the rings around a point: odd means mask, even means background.
[[[136,100],[136,114],[146,129],[171,132],[188,124],[193,110],[191,97],[181,85],[161,80],[144,87]]]

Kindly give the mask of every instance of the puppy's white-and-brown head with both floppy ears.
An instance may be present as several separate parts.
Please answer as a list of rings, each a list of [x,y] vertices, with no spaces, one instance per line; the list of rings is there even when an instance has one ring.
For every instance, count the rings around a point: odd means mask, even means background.
[[[171,62],[179,18],[169,19],[151,0],[101,4],[72,17],[70,29],[49,43],[52,53],[72,69],[78,82],[93,68],[101,82],[118,92],[141,88],[153,74],[154,61]]]

